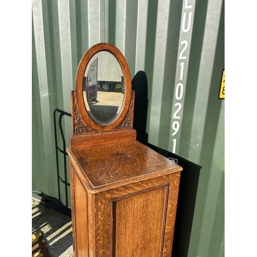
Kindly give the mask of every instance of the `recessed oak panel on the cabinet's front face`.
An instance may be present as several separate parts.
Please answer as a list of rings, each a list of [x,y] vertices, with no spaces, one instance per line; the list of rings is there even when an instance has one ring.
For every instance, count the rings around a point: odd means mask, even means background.
[[[113,203],[113,256],[161,256],[167,192],[162,187]]]

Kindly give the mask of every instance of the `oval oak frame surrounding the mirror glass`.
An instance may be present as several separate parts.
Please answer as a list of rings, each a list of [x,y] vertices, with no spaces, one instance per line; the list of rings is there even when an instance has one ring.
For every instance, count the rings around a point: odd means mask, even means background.
[[[111,122],[107,124],[99,124],[94,121],[87,112],[84,97],[83,97],[83,78],[85,74],[86,67],[90,61],[90,59],[100,51],[108,51],[117,59],[120,64],[123,78],[124,78],[124,98],[123,103],[120,109],[119,114],[113,119]],[[132,95],[132,85],[131,85],[131,75],[130,69],[128,68],[127,62],[121,53],[121,51],[114,45],[109,43],[99,43],[92,47],[90,47],[84,56],[82,57],[75,80],[75,89],[76,89],[76,99],[77,99],[77,107],[79,109],[81,118],[96,131],[111,131],[114,130],[118,125],[123,121],[130,107],[131,95]]]

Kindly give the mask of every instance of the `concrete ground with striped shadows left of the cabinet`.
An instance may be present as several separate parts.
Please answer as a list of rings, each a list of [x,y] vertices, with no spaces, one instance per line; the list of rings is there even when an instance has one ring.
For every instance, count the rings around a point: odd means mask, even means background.
[[[51,257],[73,257],[71,217],[32,199],[32,234],[41,232]]]

